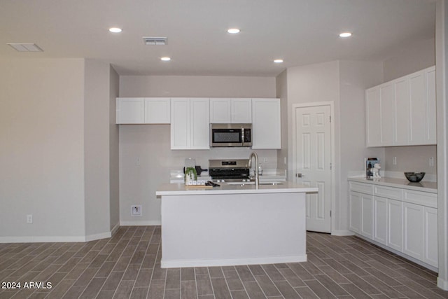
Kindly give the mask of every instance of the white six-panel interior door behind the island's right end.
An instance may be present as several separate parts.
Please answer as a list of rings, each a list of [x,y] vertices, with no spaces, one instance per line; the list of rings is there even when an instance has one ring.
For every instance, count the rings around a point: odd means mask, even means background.
[[[319,189],[307,194],[307,230],[331,232],[330,105],[295,107],[294,116],[294,179]]]

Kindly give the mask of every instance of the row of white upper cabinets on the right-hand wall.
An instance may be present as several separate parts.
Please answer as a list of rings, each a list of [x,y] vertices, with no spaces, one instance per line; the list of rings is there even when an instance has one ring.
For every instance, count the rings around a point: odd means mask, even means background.
[[[436,144],[435,67],[365,92],[367,146]]]

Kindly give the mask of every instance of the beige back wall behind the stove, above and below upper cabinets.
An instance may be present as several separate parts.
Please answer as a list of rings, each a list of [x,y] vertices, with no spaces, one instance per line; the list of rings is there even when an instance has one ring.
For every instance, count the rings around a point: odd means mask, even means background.
[[[275,78],[218,76],[120,76],[120,97],[276,97]],[[182,170],[185,158],[208,168],[209,159],[243,158],[247,148],[172,151],[169,125],[120,125],[120,223],[160,223],[155,190],[169,182],[170,170]],[[257,151],[262,167],[276,168],[276,151]],[[136,159],[140,159],[137,165]],[[141,217],[131,205],[142,205]]]

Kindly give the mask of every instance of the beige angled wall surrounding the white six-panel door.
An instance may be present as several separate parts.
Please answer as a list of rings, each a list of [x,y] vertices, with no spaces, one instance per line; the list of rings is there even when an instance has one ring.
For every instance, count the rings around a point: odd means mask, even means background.
[[[332,212],[332,233],[348,232],[347,176],[363,170],[363,158],[384,158],[383,149],[365,148],[365,88],[381,82],[381,64],[377,62],[323,62],[287,70],[288,128],[292,127],[292,105],[295,103],[333,102],[335,127],[335,198]],[[283,86],[284,75],[277,77],[277,86]],[[284,109],[284,107],[283,107]],[[354,130],[354,131],[353,131]],[[288,130],[288,140],[293,140]],[[288,177],[293,177],[293,144],[288,144]]]

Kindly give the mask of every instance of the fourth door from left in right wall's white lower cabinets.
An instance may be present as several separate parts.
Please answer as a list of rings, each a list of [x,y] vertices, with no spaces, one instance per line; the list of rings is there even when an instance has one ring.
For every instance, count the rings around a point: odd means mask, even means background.
[[[402,251],[403,216],[402,202],[387,200],[387,242],[386,245]]]

